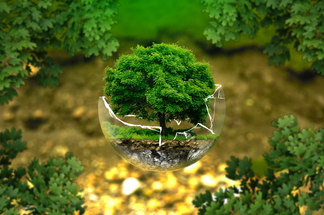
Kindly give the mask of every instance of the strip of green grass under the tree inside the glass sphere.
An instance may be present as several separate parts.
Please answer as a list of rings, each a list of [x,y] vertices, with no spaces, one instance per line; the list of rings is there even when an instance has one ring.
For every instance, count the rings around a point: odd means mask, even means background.
[[[187,131],[187,129],[173,130],[171,127],[166,128],[166,136],[161,136],[161,139],[172,140],[176,132]],[[102,131],[107,138],[119,139],[119,138],[131,138],[131,139],[151,139],[159,140],[160,135],[157,131],[151,129],[141,129],[137,127],[119,127],[118,125],[111,125],[110,122],[105,121],[102,123]],[[197,135],[194,132],[189,132],[195,139],[218,139],[219,134],[213,135]],[[186,140],[185,136],[178,135],[176,140]]]

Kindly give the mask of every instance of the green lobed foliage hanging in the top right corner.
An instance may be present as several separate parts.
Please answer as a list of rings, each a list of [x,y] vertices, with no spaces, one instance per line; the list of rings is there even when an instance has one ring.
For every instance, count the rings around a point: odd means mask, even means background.
[[[303,54],[312,69],[324,75],[324,2],[310,0],[202,0],[209,13],[204,30],[208,40],[222,47],[224,41],[238,41],[241,35],[253,38],[261,27],[275,26],[276,32],[264,46],[269,65],[290,60],[288,46]]]

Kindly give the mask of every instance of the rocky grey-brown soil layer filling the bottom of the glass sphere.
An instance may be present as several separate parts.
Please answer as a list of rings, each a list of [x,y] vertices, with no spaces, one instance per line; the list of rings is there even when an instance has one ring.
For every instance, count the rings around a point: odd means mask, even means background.
[[[162,140],[120,138],[112,147],[127,161],[151,171],[170,171],[199,161],[214,146],[215,139]]]

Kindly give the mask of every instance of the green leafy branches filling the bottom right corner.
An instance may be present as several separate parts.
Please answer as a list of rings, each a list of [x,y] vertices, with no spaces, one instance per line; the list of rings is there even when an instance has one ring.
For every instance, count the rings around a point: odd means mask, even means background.
[[[215,199],[209,191],[200,194],[193,201],[200,215],[299,215],[303,206],[310,215],[324,207],[324,129],[300,129],[292,115],[272,125],[277,130],[269,139],[270,153],[263,155],[271,167],[265,178],[254,177],[251,159],[232,156],[226,162],[226,177],[240,180],[240,191],[220,189]]]

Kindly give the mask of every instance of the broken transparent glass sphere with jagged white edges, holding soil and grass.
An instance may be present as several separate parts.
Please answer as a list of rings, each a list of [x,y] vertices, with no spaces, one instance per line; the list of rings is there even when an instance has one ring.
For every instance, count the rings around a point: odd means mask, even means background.
[[[111,147],[133,165],[156,172],[185,168],[205,156],[216,143],[225,120],[225,96],[222,85],[215,85],[212,95],[204,99],[206,122],[191,124],[170,120],[161,135],[159,122],[147,122],[135,115],[118,116],[109,98],[98,100],[101,129]]]

